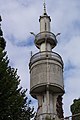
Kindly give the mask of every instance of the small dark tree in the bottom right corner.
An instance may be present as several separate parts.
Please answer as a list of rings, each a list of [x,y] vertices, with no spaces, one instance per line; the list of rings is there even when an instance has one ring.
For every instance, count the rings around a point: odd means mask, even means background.
[[[80,98],[73,100],[73,104],[70,106],[70,109],[72,115],[76,114],[76,116],[72,117],[72,120],[80,120],[80,114],[78,115],[78,113],[80,113]]]

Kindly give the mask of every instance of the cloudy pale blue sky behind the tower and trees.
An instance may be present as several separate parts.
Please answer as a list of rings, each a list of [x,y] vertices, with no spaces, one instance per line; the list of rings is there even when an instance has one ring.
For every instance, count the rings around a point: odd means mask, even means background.
[[[80,0],[46,0],[47,13],[51,17],[51,31],[61,33],[53,51],[64,61],[64,115],[71,115],[70,105],[80,97]],[[39,16],[43,14],[43,0],[0,0],[2,30],[10,65],[18,69],[20,85],[30,90],[29,60],[35,34],[40,32]],[[31,96],[28,94],[29,98]],[[37,101],[32,99],[32,105]]]

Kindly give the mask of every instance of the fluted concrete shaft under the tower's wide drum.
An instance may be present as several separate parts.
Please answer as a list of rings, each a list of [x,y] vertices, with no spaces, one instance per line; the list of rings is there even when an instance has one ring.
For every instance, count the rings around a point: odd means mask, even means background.
[[[49,91],[47,92],[37,96],[38,109],[36,120],[49,120],[49,118],[50,120],[60,120],[56,111],[58,94],[51,94]]]

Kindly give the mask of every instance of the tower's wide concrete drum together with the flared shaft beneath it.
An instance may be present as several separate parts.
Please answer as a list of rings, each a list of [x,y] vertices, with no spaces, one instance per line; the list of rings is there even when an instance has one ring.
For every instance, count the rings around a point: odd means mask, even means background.
[[[57,97],[64,93],[62,58],[55,52],[39,52],[31,57],[29,67],[30,94],[38,100],[38,120],[47,113],[57,117]]]

